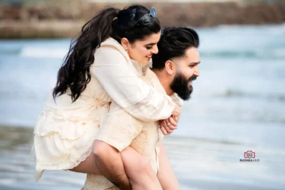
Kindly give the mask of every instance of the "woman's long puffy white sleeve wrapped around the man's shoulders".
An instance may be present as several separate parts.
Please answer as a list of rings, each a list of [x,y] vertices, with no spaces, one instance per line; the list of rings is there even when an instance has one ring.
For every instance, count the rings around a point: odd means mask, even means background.
[[[98,48],[94,63],[90,66],[90,74],[133,117],[145,122],[170,117],[175,102],[172,102],[171,97],[150,88],[135,72],[133,63],[113,46]]]

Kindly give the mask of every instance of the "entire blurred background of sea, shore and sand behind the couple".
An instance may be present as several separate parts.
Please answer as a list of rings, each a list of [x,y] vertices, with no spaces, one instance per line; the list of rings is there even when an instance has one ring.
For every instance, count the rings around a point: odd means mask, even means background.
[[[200,77],[165,137],[182,189],[285,189],[285,1],[0,1],[0,189],[81,189],[85,174],[33,179],[33,126],[71,37],[106,5],[154,6],[201,38]],[[240,162],[244,152],[259,162]],[[170,179],[171,180],[171,179]]]

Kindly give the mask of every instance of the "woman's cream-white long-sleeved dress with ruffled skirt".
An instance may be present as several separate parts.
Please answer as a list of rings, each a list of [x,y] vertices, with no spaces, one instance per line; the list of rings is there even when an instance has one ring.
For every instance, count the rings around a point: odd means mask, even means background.
[[[81,97],[72,102],[69,89],[56,101],[50,95],[38,117],[34,128],[36,181],[45,169],[72,169],[90,155],[110,102],[149,122],[170,117],[175,107],[169,96],[138,78],[128,53],[113,38],[101,43],[94,56],[91,80]]]

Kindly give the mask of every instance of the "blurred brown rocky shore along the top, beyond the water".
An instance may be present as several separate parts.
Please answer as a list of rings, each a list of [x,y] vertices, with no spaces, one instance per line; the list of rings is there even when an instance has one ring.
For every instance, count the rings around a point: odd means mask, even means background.
[[[79,1],[78,1],[79,2]],[[104,6],[129,4],[73,3],[68,6],[0,6],[0,38],[70,38]],[[162,26],[211,27],[231,24],[285,23],[285,2],[244,4],[153,3]]]

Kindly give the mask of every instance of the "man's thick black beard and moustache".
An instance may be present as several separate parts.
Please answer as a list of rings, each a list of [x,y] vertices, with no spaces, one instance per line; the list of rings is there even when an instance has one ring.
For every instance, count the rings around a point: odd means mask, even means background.
[[[192,75],[192,77],[187,80],[187,78],[185,78],[182,73],[177,73],[170,85],[170,88],[173,90],[173,92],[177,93],[177,95],[182,100],[189,100],[191,97],[191,93],[193,92],[193,87],[192,85],[190,85],[189,88],[188,83],[192,80],[196,80],[196,78],[196,75]]]

